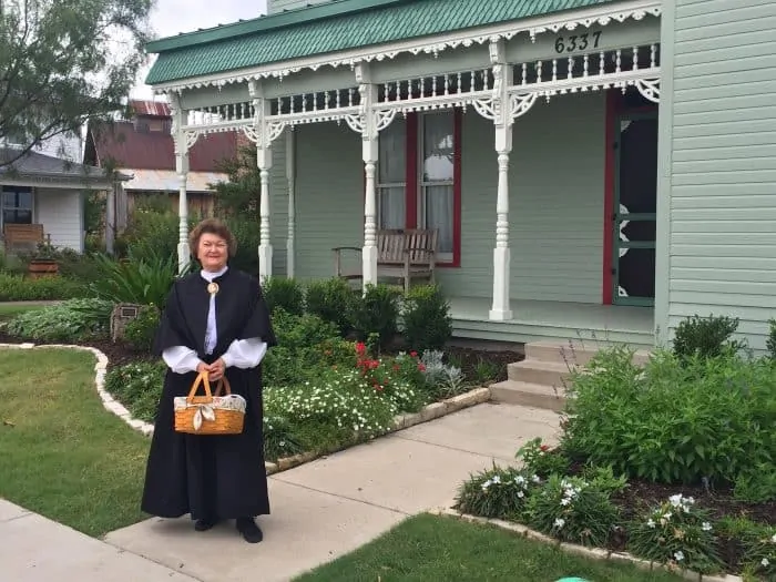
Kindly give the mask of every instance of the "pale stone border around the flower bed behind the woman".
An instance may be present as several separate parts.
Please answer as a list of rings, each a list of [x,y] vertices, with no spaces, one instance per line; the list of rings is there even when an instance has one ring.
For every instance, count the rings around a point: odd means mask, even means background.
[[[134,430],[142,432],[146,437],[150,437],[154,432],[153,425],[133,418],[130,411],[115,400],[111,394],[105,390],[105,376],[108,374],[108,356],[101,350],[89,347],[89,346],[78,346],[73,344],[0,344],[0,349],[11,348],[11,349],[75,349],[81,351],[89,351],[96,357],[96,364],[94,365],[94,384],[96,386],[98,394],[102,400],[102,406],[105,410],[112,412],[113,415],[121,418]],[[413,427],[422,422],[428,422],[429,420],[435,420],[452,412],[457,412],[464,408],[470,408],[472,406],[481,405],[490,400],[491,394],[490,388],[481,387],[474,388],[468,392],[463,392],[452,398],[447,398],[439,402],[431,402],[425,406],[418,412],[398,415],[394,418],[394,426],[384,435],[390,435],[398,430]],[[303,452],[302,455],[295,455],[293,457],[285,457],[278,459],[276,463],[265,462],[265,468],[267,474],[277,473],[304,464],[306,462],[313,461],[319,457],[324,457],[326,453],[317,452]]]

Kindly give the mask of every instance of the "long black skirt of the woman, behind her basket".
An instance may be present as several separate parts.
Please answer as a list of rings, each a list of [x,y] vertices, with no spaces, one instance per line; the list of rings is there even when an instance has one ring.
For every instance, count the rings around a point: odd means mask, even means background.
[[[141,509],[161,518],[191,513],[195,520],[268,514],[259,371],[227,370],[232,392],[247,401],[241,435],[175,432],[173,398],[187,395],[195,378],[195,374],[167,371],[154,422]],[[198,392],[202,391],[201,387]]]

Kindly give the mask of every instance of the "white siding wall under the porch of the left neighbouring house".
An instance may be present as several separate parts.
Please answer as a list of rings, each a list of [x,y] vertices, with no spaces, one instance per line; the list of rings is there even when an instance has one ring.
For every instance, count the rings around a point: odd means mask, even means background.
[[[35,221],[55,247],[83,252],[83,201],[78,190],[35,190]]]

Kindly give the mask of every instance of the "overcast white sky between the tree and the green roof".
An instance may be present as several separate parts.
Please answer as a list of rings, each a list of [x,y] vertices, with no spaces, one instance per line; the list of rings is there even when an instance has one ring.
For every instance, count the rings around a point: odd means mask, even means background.
[[[157,38],[163,38],[227,24],[241,18],[247,20],[266,12],[267,0],[156,0],[151,12],[151,27]],[[140,72],[137,85],[131,93],[133,98],[152,98],[151,88],[144,83],[150,69],[151,63]]]

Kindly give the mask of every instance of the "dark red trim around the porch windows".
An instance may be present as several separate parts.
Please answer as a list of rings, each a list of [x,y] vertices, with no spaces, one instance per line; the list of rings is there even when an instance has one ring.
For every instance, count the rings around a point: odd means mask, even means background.
[[[461,266],[461,129],[463,115],[460,108],[453,109],[452,121],[452,261],[438,261],[437,266],[456,268]],[[418,227],[418,204],[420,193],[419,151],[420,124],[418,113],[407,114],[407,188],[405,198],[407,228]]]

